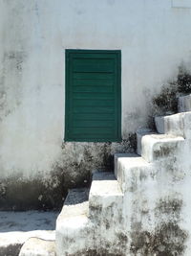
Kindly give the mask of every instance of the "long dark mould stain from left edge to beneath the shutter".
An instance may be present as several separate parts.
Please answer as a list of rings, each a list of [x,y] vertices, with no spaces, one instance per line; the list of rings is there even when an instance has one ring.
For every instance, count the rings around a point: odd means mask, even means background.
[[[135,134],[121,143],[65,143],[50,175],[0,180],[0,210],[60,209],[72,188],[90,187],[96,170],[112,172],[115,152],[133,152]]]

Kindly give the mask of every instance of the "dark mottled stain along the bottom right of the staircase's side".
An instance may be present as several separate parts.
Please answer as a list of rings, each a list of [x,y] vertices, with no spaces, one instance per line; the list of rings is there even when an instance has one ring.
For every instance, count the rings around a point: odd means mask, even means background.
[[[133,231],[131,238],[131,255],[181,256],[187,233],[180,229],[177,222],[169,221],[160,222],[154,232]]]

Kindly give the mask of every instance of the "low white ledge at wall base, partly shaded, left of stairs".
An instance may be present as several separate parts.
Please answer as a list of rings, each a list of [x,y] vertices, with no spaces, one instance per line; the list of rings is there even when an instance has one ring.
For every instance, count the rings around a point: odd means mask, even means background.
[[[58,212],[0,212],[0,256],[18,256],[32,237],[55,240]]]

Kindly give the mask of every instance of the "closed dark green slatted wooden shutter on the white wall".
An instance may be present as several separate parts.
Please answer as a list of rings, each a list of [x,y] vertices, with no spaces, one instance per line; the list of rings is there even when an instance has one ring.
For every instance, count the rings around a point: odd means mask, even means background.
[[[120,51],[66,50],[66,141],[121,139]]]

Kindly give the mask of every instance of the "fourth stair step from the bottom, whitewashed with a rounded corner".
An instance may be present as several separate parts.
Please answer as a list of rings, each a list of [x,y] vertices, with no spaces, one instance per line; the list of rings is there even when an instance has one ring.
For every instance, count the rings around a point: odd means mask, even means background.
[[[141,149],[139,154],[148,162],[168,160],[168,157],[180,150],[183,142],[183,137],[170,134],[138,134],[138,148]]]

